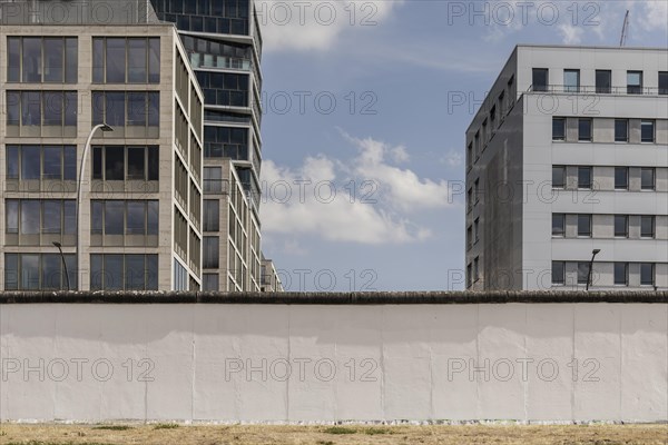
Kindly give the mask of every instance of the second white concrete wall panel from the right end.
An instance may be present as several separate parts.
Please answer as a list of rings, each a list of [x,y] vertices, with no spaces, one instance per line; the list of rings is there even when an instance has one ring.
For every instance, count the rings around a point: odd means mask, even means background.
[[[573,358],[578,360],[573,417],[621,417],[620,305],[579,305],[574,310]]]

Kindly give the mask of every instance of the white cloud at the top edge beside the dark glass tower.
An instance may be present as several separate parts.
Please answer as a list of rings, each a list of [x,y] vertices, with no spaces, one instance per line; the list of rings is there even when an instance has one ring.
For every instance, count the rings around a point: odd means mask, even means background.
[[[377,26],[403,0],[255,0],[268,51],[326,50],[346,30]]]

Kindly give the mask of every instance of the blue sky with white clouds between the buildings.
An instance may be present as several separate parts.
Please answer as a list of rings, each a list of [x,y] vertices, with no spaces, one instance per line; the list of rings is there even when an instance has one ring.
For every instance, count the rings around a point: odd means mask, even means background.
[[[627,9],[627,46],[668,44],[664,1],[257,4],[263,250],[288,290],[463,288],[464,130],[513,47],[618,46]]]

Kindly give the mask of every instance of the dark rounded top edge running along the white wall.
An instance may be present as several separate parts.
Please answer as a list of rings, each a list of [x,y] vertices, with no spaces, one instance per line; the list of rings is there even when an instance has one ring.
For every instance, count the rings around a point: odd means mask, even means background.
[[[243,305],[470,305],[668,304],[668,291],[409,291],[409,293],[195,293],[7,291],[8,304],[243,304]]]

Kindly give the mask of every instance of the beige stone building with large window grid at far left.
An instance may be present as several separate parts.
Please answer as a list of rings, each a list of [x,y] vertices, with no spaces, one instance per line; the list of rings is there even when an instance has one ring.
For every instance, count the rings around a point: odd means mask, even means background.
[[[200,289],[204,95],[150,17],[0,2],[0,289]]]

